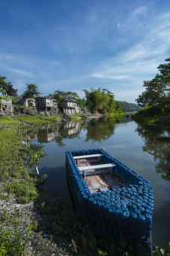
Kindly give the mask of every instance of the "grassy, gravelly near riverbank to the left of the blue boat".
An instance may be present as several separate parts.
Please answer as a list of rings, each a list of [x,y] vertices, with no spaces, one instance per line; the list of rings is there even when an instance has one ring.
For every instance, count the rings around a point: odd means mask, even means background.
[[[31,125],[42,124],[29,118]],[[58,195],[51,198],[43,191],[46,175],[38,179],[27,166],[47,152],[26,148],[24,140],[22,122],[0,117],[0,255],[133,255],[126,239],[115,245],[95,236]],[[154,255],[159,254],[169,255],[169,246],[157,248]]]

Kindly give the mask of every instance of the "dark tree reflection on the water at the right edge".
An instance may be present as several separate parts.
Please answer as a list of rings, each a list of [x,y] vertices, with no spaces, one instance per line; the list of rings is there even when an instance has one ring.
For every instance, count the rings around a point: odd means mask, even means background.
[[[163,126],[147,126],[139,124],[137,132],[145,141],[143,151],[154,156],[157,163],[155,168],[161,177],[170,180],[170,151],[169,151],[169,132],[168,128]]]

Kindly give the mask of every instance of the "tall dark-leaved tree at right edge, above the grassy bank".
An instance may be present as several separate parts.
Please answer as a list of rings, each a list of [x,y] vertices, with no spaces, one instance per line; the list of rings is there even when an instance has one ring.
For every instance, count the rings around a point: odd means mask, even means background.
[[[151,105],[160,105],[162,107],[170,106],[170,58],[165,59],[167,63],[160,64],[157,74],[151,81],[144,81],[145,92],[139,95],[136,102],[141,107]]]

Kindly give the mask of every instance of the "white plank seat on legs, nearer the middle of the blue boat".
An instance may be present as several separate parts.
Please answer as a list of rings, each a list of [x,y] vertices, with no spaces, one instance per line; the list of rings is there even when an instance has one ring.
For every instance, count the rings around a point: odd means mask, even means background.
[[[82,166],[79,167],[80,172],[82,171],[83,177],[85,178],[85,175],[91,175],[91,174],[100,174],[104,172],[110,172],[112,174],[112,167],[114,167],[114,163],[105,163],[105,164],[99,164],[96,166]],[[109,170],[108,170],[109,168]],[[93,172],[91,172],[91,169],[94,169]],[[101,170],[95,170],[95,169],[101,169]]]

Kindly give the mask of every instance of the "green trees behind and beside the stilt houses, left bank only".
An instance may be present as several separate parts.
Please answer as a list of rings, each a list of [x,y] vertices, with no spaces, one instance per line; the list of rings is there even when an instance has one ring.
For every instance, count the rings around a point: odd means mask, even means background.
[[[1,99],[7,99],[7,96],[13,99],[13,102],[16,101],[17,90],[13,88],[13,85],[6,81],[6,77],[0,76],[0,103]],[[49,93],[46,97],[49,99],[56,99],[58,102],[58,107],[61,107],[62,99],[72,99],[76,100],[80,107],[88,108],[92,113],[99,112],[102,114],[106,113],[121,113],[121,105],[115,101],[115,96],[107,89],[98,88],[95,90],[91,88],[90,91],[83,90],[85,92],[85,98],[80,99],[77,93],[71,91],[61,91],[55,90],[54,93]],[[26,90],[22,93],[24,98],[33,98],[40,96],[40,90],[37,87],[37,84],[26,84]]]

